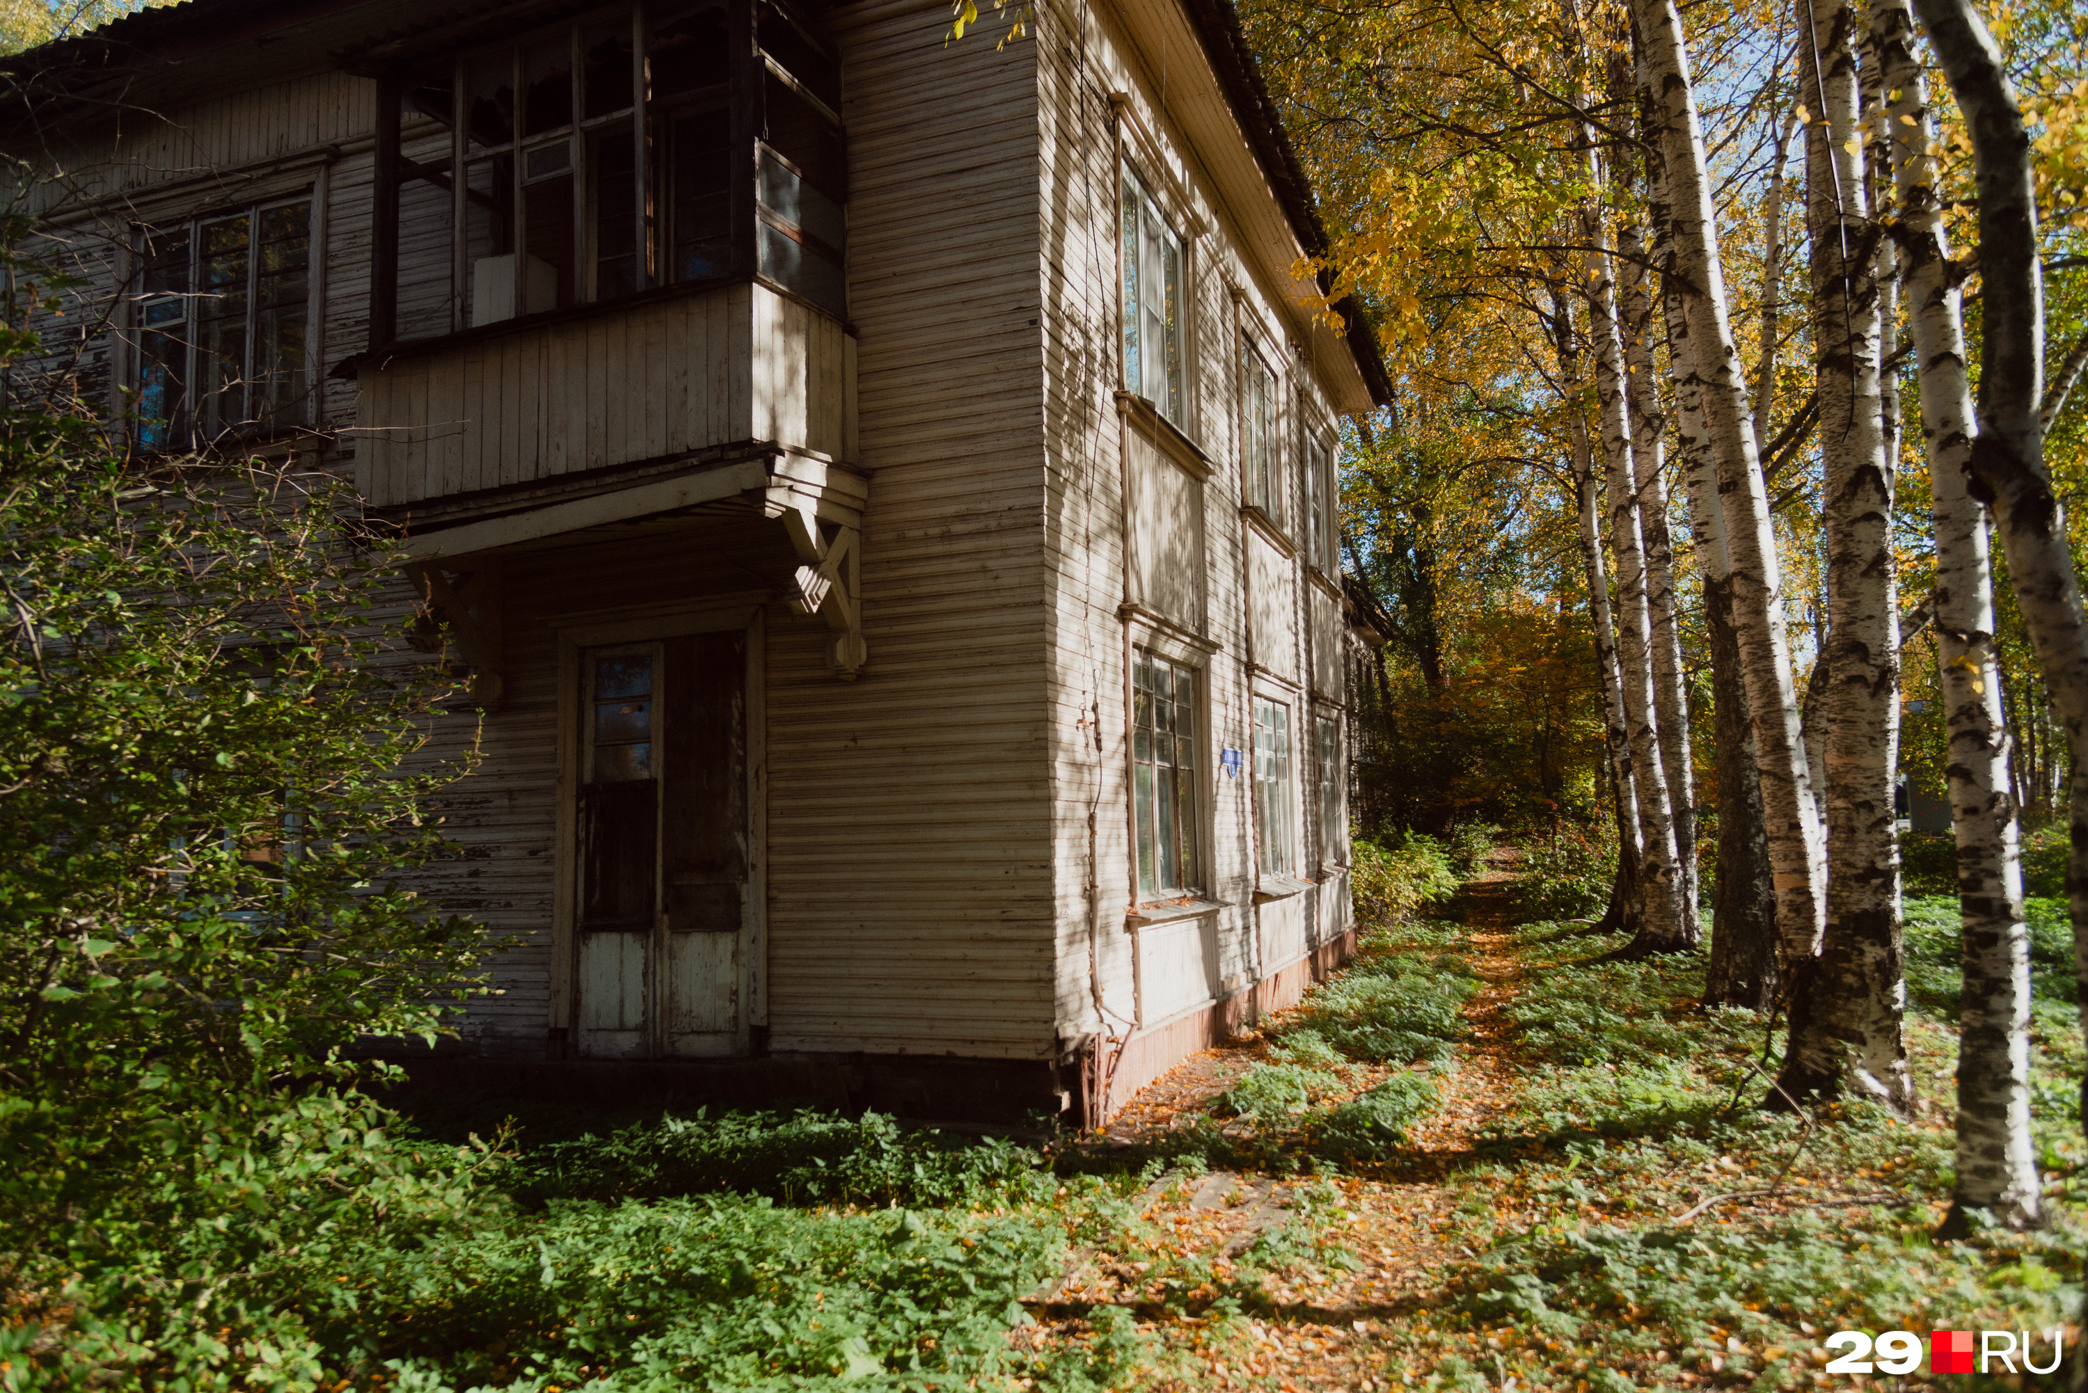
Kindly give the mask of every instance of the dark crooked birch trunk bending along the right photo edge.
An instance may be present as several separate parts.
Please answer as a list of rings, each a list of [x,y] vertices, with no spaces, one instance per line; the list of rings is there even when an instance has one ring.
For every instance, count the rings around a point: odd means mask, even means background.
[[[2000,524],[2023,627],[2073,756],[2069,779],[2073,971],[2088,1021],[2088,614],[2067,547],[2065,514],[2044,466],[2040,378],[2044,288],[2030,132],[2000,48],[1969,0],[1919,0],[1915,13],[1971,132],[1979,190],[1979,428],[1967,468]],[[2082,1111],[2088,1122],[2088,1109]]]

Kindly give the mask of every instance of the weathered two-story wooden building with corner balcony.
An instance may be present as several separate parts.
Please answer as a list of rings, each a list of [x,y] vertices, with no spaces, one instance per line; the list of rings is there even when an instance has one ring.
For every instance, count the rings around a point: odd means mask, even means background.
[[[1353,942],[1389,388],[1232,10],[948,27],[188,0],[19,65],[111,414],[353,472],[472,668],[426,888],[512,950],[426,1069],[1092,1117]]]

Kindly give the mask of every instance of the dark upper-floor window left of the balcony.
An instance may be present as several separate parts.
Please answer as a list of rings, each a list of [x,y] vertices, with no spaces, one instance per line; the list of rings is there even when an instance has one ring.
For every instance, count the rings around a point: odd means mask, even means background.
[[[303,422],[311,200],[150,228],[140,251],[138,443]]]

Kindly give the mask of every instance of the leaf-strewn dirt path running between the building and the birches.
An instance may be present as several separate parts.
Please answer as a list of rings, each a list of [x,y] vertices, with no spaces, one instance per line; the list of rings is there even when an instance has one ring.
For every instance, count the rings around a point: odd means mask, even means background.
[[[1497,1117],[1514,1094],[1520,1069],[1514,1059],[1514,1000],[1522,963],[1514,952],[1508,883],[1514,852],[1497,852],[1466,890],[1466,942],[1460,957],[1470,961],[1480,990],[1466,1005],[1470,1038],[1457,1050],[1457,1067],[1445,1080],[1443,1107],[1414,1132],[1414,1149],[1372,1178],[1345,1178],[1345,1213],[1318,1215],[1322,1226],[1340,1226],[1338,1243],[1361,1268],[1343,1272],[1301,1266],[1290,1278],[1267,1278],[1263,1291],[1274,1318],[1251,1322],[1253,1347],[1205,1345],[1196,1320],[1144,1309],[1167,1337],[1178,1360],[1194,1372],[1155,1380],[1169,1389],[1393,1389],[1401,1370],[1386,1368],[1372,1339],[1386,1322],[1409,1318],[1441,1280],[1445,1264],[1468,1257],[1460,1245],[1457,1199],[1443,1184],[1470,1163],[1478,1130]],[[1234,1078],[1261,1063],[1267,1046],[1247,1038],[1196,1055],[1146,1088],[1111,1124],[1111,1138],[1123,1144],[1150,1142],[1159,1132],[1194,1119]],[[1180,1180],[1148,1190],[1153,1222],[1173,1228],[1184,1249],[1217,1257],[1215,1272],[1228,1274],[1226,1255],[1236,1253],[1253,1232],[1284,1213],[1276,1207],[1284,1188],[1261,1176],[1211,1176]],[[1069,1314],[1063,1303],[1125,1301],[1140,1272],[1109,1257],[1090,1257],[1057,1293],[1046,1324],[1036,1339],[1052,1337],[1052,1316]],[[1061,1326],[1071,1328],[1071,1326]]]

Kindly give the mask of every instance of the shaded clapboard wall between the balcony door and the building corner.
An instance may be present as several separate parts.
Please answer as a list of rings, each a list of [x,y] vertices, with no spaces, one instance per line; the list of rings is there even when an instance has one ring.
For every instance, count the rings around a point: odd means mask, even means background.
[[[862,616],[768,629],[773,1048],[1054,1050],[1036,94],[948,13],[835,10]],[[923,113],[965,113],[940,138]],[[779,395],[777,401],[785,401]]]

